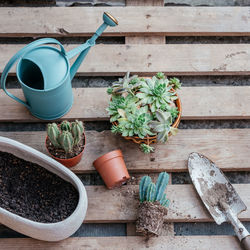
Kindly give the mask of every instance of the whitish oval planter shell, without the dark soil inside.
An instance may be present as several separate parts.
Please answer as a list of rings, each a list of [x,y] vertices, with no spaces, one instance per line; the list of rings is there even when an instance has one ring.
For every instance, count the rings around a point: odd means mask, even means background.
[[[0,136],[0,151],[39,164],[65,181],[70,182],[79,192],[79,201],[75,211],[63,221],[56,223],[35,222],[0,208],[0,223],[39,240],[59,241],[72,235],[83,223],[88,206],[87,193],[81,180],[59,162],[15,140]]]

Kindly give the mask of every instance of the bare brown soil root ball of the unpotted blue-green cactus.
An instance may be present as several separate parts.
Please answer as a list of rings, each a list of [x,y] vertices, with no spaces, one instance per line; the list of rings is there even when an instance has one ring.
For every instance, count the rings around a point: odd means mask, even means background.
[[[163,217],[167,214],[167,211],[167,208],[163,207],[158,201],[141,203],[136,221],[136,232],[142,233],[148,238],[160,235],[164,222]]]

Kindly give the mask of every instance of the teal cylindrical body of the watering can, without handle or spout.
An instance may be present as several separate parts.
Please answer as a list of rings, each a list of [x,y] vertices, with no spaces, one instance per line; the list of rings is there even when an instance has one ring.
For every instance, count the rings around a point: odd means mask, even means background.
[[[70,64],[64,51],[51,46],[35,47],[20,58],[16,72],[32,115],[54,120],[71,109]]]

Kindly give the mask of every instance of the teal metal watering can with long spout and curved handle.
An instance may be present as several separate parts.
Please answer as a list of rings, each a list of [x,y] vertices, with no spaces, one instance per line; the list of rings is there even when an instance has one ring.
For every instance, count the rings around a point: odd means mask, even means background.
[[[5,66],[1,76],[2,89],[9,97],[27,107],[32,115],[42,120],[62,117],[72,107],[71,80],[83,59],[102,32],[108,26],[117,24],[114,17],[104,13],[103,24],[95,34],[86,43],[69,52],[65,52],[62,44],[53,38],[43,38],[28,44]],[[44,44],[57,44],[60,49]],[[78,58],[70,67],[69,60],[78,54]],[[14,96],[5,87],[7,75],[17,60],[17,78],[26,101]]]

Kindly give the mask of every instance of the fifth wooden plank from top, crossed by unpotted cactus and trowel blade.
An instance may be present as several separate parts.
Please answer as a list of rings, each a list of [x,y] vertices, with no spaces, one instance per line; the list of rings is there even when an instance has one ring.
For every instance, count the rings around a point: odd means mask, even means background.
[[[250,206],[250,184],[234,185],[247,207]],[[137,218],[139,204],[138,186],[123,186],[108,190],[104,186],[86,186],[88,210],[85,222],[133,222]],[[193,185],[169,185],[167,197],[171,201],[165,222],[209,222],[213,221]],[[100,207],[102,211],[100,213]],[[239,218],[250,221],[250,210]]]

